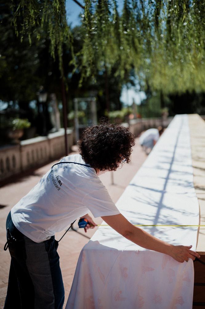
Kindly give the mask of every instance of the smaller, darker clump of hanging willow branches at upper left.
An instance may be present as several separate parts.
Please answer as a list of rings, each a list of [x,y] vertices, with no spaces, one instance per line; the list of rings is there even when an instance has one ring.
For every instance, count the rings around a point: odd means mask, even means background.
[[[11,9],[15,32],[21,40],[27,34],[31,44],[31,33],[35,33],[39,39],[43,29],[46,29],[51,41],[51,55],[55,59],[55,49],[57,49],[59,69],[63,73],[63,44],[67,45],[73,53],[72,33],[66,20],[65,1],[12,0]]]

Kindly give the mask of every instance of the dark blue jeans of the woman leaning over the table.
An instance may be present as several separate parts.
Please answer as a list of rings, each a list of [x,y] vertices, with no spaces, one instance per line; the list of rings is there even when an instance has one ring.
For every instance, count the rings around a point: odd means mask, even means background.
[[[6,220],[11,255],[4,309],[62,309],[64,285],[55,237],[35,243]]]

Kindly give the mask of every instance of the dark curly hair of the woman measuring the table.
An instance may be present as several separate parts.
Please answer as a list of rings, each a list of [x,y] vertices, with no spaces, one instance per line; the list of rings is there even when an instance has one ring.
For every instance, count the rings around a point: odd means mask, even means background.
[[[84,129],[78,142],[85,163],[100,171],[116,171],[122,161],[129,163],[134,144],[128,128],[105,121]]]

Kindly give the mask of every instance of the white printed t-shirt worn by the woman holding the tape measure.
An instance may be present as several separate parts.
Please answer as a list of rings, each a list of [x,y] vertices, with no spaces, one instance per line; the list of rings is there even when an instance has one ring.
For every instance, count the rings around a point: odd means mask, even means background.
[[[81,155],[59,162],[11,209],[16,228],[36,243],[66,229],[88,211],[95,218],[120,214],[94,168],[62,163],[86,164]]]

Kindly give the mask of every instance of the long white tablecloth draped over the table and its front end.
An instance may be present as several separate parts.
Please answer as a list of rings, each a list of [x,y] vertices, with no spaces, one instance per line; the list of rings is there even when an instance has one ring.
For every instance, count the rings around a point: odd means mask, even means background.
[[[133,224],[199,224],[187,115],[174,117],[117,207]],[[196,249],[197,227],[142,228]],[[80,253],[66,309],[191,309],[193,284],[192,260],[178,263],[102,226]]]

